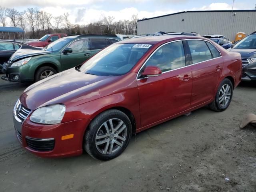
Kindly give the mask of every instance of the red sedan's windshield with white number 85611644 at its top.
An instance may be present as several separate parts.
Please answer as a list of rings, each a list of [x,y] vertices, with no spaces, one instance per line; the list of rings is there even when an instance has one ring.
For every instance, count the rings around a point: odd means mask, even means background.
[[[112,44],[81,67],[80,71],[98,76],[119,76],[129,72],[152,44]]]

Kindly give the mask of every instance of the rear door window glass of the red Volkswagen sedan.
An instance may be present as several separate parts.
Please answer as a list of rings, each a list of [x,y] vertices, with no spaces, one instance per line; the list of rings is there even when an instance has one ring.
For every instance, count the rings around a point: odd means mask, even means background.
[[[212,59],[212,54],[205,41],[188,40],[193,64]]]

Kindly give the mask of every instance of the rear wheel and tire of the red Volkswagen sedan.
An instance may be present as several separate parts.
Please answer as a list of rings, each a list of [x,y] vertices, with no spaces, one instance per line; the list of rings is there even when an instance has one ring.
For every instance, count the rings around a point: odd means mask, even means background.
[[[230,89],[225,90],[228,86],[230,87]],[[224,92],[225,92],[225,94],[223,94]],[[211,110],[214,110],[217,112],[226,110],[228,108],[228,106],[230,105],[232,96],[233,96],[233,84],[229,79],[225,78],[220,83],[220,86],[219,86],[217,93],[214,97],[214,101],[209,104],[209,108]]]

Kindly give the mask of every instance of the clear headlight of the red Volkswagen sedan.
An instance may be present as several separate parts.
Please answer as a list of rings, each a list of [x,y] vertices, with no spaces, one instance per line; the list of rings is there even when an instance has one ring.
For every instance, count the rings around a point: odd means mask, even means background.
[[[40,107],[30,116],[30,120],[42,124],[58,124],[61,122],[66,111],[63,104],[54,104]]]

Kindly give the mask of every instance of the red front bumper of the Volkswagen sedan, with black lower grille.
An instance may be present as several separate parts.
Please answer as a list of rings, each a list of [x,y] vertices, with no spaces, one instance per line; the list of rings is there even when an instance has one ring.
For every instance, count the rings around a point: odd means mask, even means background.
[[[26,150],[41,157],[67,157],[82,154],[83,138],[90,120],[80,119],[60,124],[44,125],[30,121],[18,122],[15,117],[16,137]],[[74,137],[62,140],[62,136]]]

